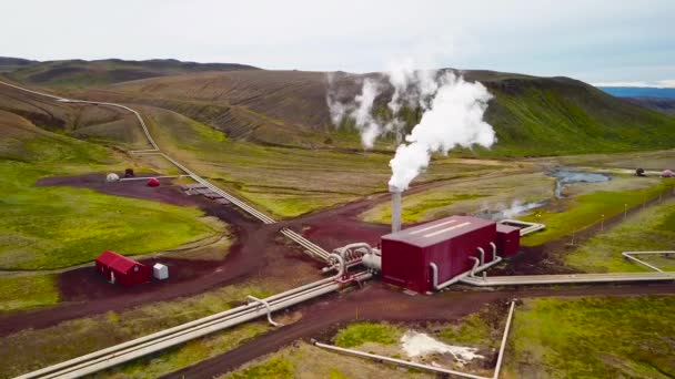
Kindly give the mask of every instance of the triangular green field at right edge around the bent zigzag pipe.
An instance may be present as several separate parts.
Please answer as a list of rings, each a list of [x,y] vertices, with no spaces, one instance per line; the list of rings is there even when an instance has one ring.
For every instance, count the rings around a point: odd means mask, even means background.
[[[574,252],[564,255],[565,264],[584,272],[649,272],[624,259],[622,252],[675,250],[675,199],[648,207],[622,224],[595,235]],[[664,270],[675,270],[675,258],[639,256]]]

